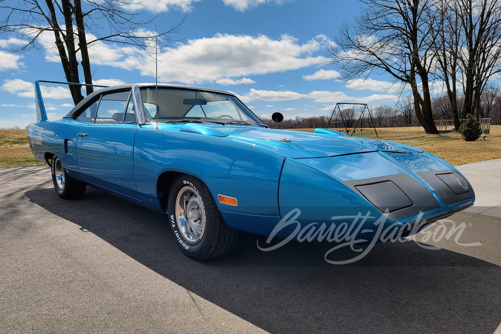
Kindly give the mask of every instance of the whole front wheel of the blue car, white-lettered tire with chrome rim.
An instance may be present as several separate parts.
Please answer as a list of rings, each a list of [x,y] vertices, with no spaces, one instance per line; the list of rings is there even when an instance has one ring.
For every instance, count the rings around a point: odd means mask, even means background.
[[[168,197],[170,228],[181,251],[195,260],[221,256],[233,248],[238,231],[221,218],[207,187],[182,175]]]

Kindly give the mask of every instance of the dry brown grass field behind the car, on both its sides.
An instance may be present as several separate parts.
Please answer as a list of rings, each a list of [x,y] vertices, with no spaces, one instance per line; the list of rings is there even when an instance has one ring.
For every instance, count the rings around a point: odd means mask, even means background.
[[[313,132],[314,129],[298,131]],[[501,158],[501,125],[490,127],[485,141],[465,142],[457,132],[427,135],[421,127],[379,128],[379,138],[416,146],[457,166],[482,160]],[[355,134],[358,137],[376,138],[374,129]],[[42,166],[28,146],[26,130],[0,130],[0,168]]]

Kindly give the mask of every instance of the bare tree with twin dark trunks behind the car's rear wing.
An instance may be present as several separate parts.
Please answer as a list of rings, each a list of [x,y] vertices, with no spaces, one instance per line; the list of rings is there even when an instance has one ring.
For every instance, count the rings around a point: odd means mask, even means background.
[[[68,82],[80,83],[78,55],[86,84],[92,84],[92,72],[88,49],[98,41],[121,43],[151,51],[151,41],[158,38],[161,45],[171,41],[169,34],[175,33],[180,25],[160,34],[140,33],[140,28],[151,24],[138,21],[134,13],[128,12],[128,0],[87,0],[82,7],[81,0],[24,0],[18,5],[6,4],[0,0],[0,8],[9,14],[0,22],[0,34],[14,35],[22,45],[14,44],[10,52],[23,52],[38,48],[38,40],[44,33],[54,34],[54,43],[61,58],[61,65]],[[136,13],[137,14],[137,13]],[[104,36],[100,32],[106,31]],[[90,40],[87,40],[91,37]],[[153,51],[154,53],[154,51]],[[73,102],[83,99],[81,86],[70,86]],[[92,87],[86,87],[87,94]]]

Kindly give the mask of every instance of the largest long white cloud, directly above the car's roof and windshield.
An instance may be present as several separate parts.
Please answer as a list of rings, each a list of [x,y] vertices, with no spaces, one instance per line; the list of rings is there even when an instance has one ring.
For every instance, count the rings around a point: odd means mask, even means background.
[[[217,34],[211,38],[189,40],[159,55],[159,77],[162,81],[187,84],[213,82],[222,78],[244,77],[297,70],[318,65],[323,57],[312,54],[324,48],[328,39],[317,36],[305,44],[289,35],[279,40],[267,36]],[[154,76],[154,61],[137,56],[119,61],[117,66],[141,70]]]

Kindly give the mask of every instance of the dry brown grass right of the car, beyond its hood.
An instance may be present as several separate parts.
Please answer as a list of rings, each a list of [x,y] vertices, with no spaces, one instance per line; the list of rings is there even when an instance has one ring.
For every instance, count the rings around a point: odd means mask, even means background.
[[[315,129],[298,131],[313,132]],[[337,129],[334,129],[337,130]],[[364,129],[355,134],[358,137],[376,138],[374,129]],[[451,165],[501,158],[501,125],[491,125],[485,141],[466,142],[458,132],[441,135],[427,135],[421,127],[376,128],[379,138],[387,141],[419,147],[442,158]]]

